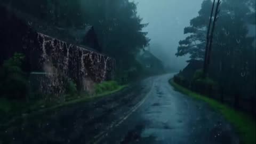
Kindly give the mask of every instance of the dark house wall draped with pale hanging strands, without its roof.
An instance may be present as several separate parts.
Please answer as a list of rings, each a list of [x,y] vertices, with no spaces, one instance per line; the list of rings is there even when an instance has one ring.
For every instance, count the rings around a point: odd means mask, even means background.
[[[15,52],[26,56],[25,70],[30,75],[45,74],[38,89],[61,97],[67,81],[74,81],[79,90],[93,91],[94,83],[114,77],[115,60],[93,51],[37,33],[29,23],[0,6],[0,65]],[[33,85],[33,83],[30,83]]]

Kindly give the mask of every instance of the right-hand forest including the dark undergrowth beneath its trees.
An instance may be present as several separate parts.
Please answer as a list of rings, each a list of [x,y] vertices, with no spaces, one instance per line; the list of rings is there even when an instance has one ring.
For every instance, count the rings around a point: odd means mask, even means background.
[[[191,19],[190,26],[184,29],[188,36],[179,42],[176,55],[189,54],[191,67],[197,62],[203,68],[212,4],[210,0],[203,1],[199,16]],[[255,1],[223,0],[213,35],[209,74],[202,78],[202,69],[197,69],[186,77],[186,73],[192,72],[185,69],[177,75],[177,81],[202,93],[218,91],[228,95],[235,99],[235,105],[242,99],[253,103],[256,51],[255,37],[249,35],[250,25],[255,27]]]

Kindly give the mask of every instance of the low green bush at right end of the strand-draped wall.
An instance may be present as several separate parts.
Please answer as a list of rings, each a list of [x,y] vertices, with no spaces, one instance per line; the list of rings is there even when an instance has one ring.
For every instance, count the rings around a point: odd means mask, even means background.
[[[94,89],[96,94],[104,93],[107,91],[114,91],[118,88],[116,81],[106,81],[99,84],[96,84]]]

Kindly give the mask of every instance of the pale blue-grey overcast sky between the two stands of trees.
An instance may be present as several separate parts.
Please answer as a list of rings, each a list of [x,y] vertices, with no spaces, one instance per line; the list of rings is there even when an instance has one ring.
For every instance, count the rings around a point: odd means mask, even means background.
[[[133,0],[132,0],[133,1]],[[178,43],[186,36],[183,28],[189,26],[190,19],[198,15],[203,0],[134,0],[138,3],[138,15],[149,26],[150,51],[162,59],[166,65],[182,69],[188,57],[177,58]]]

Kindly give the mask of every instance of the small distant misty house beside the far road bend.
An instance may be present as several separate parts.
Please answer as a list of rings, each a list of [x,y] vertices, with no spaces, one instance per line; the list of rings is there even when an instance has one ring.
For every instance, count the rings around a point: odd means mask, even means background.
[[[148,50],[139,55],[137,59],[141,65],[151,73],[161,73],[164,71],[163,62]]]

